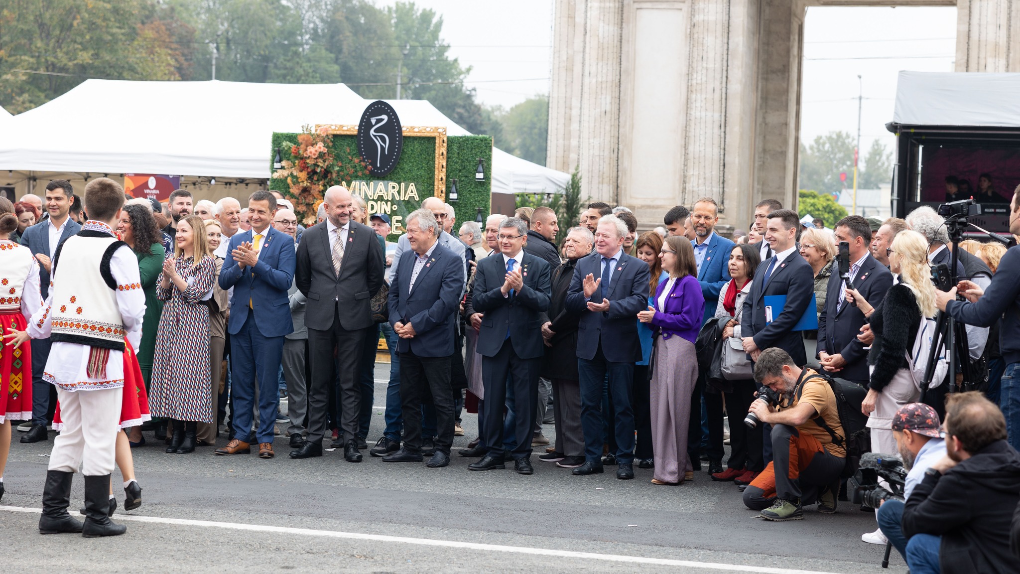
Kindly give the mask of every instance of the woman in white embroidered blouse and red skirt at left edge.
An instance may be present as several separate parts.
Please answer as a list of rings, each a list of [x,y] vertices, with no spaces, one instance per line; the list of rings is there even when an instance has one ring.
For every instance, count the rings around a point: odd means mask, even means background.
[[[13,345],[10,330],[24,331],[32,314],[42,305],[39,264],[28,247],[9,240],[17,231],[14,206],[0,197],[0,497],[3,471],[10,452],[10,422],[32,418],[32,348],[28,341]],[[10,334],[8,334],[10,333]]]

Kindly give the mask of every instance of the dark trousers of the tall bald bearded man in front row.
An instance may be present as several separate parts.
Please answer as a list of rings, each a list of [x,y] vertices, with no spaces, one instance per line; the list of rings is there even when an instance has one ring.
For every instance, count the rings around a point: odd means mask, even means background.
[[[333,326],[326,330],[308,328],[308,354],[311,358],[311,379],[308,385],[308,440],[321,441],[326,431],[329,388],[336,386],[342,413],[338,413],[345,441],[358,436],[358,416],[361,412],[362,346],[365,329],[345,330],[340,326],[340,314],[334,305]]]

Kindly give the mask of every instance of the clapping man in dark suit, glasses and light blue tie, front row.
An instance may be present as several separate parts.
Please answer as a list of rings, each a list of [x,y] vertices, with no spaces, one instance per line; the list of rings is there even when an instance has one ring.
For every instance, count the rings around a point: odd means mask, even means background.
[[[500,224],[499,256],[478,261],[471,304],[483,314],[475,349],[481,353],[486,400],[486,445],[473,471],[504,468],[503,404],[512,385],[516,425],[514,470],[531,474],[531,431],[538,412],[539,371],[545,345],[542,316],[549,309],[550,267],[523,250],[527,225],[519,218]],[[406,424],[406,423],[405,423]]]

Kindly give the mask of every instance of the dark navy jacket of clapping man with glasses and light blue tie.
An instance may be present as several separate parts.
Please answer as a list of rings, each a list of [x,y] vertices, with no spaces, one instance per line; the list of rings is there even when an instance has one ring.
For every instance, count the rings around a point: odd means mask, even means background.
[[[503,255],[499,252],[478,261],[474,270],[474,292],[471,304],[483,314],[475,350],[482,356],[496,356],[507,340],[520,358],[540,358],[545,354],[542,341],[542,314],[549,310],[551,271],[549,264],[521,250],[520,273],[524,286],[504,297],[500,291],[507,274]]]

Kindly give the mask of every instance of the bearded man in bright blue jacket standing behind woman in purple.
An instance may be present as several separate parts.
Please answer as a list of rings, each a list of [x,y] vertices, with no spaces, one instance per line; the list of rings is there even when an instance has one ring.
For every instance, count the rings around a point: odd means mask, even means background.
[[[703,322],[715,315],[719,290],[730,280],[728,261],[733,242],[715,233],[715,224],[719,222],[718,209],[715,199],[702,197],[695,201],[695,208],[691,211],[698,283],[705,296]],[[695,416],[691,417],[687,426],[687,451],[692,455],[691,460],[697,462],[699,450],[707,444],[708,472],[714,474],[722,472],[722,457],[725,455],[722,445],[722,394],[715,389],[706,389],[704,373],[699,373],[698,384],[691,393],[691,412]],[[705,439],[708,439],[707,442]],[[700,467],[701,463],[695,465],[696,470]]]

